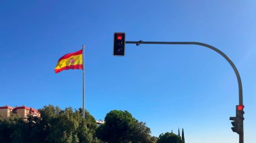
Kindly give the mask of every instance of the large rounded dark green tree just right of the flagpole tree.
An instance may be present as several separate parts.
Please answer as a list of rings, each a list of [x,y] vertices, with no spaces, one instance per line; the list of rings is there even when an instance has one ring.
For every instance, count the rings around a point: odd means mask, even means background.
[[[128,111],[120,110],[106,114],[105,123],[97,128],[96,136],[108,143],[152,142],[150,128],[138,122]]]

